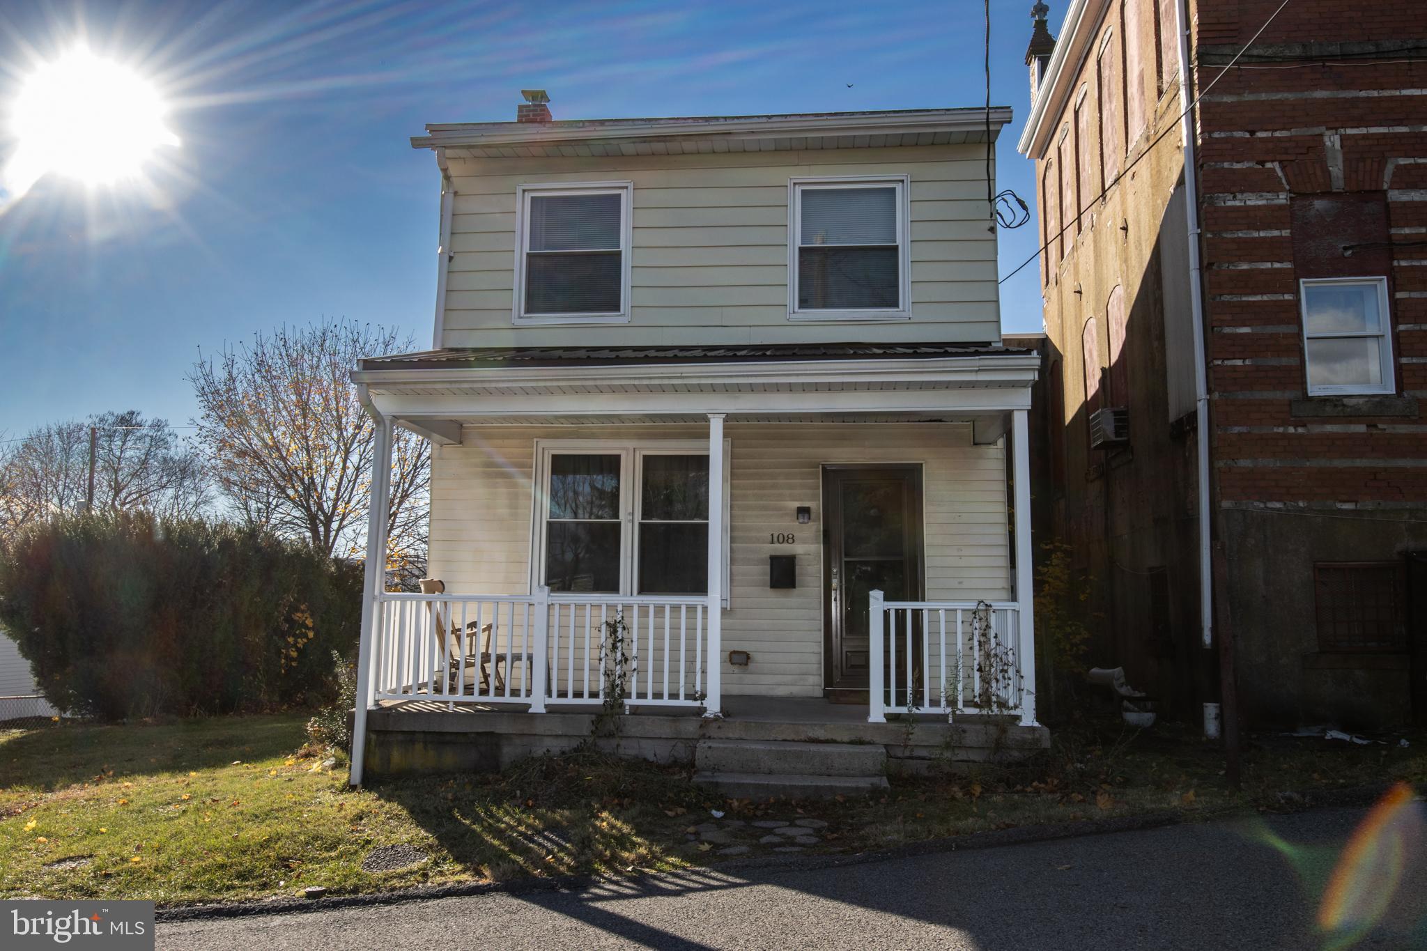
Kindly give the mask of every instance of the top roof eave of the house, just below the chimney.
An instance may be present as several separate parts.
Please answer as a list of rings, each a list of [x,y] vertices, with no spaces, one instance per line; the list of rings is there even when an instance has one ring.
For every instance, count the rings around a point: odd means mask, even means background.
[[[989,114],[992,134],[1012,120],[1009,106],[995,106]],[[481,124],[427,125],[427,135],[414,135],[412,148],[461,148],[464,145],[511,145],[535,143],[608,141],[631,138],[749,138],[775,135],[878,135],[906,131],[963,133],[986,128],[985,108],[938,108],[898,113],[869,113],[866,115],[806,115],[806,117],[748,117],[692,123],[632,123],[618,125],[544,125],[529,123],[511,128],[514,123],[499,123],[499,128],[479,131]]]

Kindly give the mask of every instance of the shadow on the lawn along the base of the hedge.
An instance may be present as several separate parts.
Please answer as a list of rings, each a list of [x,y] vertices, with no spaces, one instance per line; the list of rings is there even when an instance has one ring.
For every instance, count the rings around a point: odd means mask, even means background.
[[[204,717],[160,724],[47,726],[0,741],[0,790],[54,791],[225,766],[291,753],[307,741],[304,713]]]

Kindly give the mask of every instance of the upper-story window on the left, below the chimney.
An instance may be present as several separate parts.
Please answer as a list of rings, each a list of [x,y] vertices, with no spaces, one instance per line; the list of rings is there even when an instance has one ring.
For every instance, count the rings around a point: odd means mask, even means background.
[[[517,190],[515,319],[629,319],[629,183]]]

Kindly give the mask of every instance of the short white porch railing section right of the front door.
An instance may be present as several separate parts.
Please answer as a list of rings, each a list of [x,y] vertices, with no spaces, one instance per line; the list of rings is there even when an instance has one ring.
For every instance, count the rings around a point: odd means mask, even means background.
[[[1006,713],[1035,721],[1032,656],[1016,602],[889,602],[868,599],[868,720],[888,713]]]

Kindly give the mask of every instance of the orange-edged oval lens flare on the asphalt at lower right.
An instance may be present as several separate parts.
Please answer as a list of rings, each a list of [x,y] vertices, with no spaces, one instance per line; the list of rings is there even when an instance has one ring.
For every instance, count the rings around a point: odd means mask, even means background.
[[[1421,804],[1406,783],[1390,788],[1354,830],[1319,905],[1319,927],[1334,947],[1381,921],[1408,860],[1417,857],[1421,833]]]

